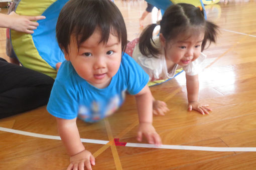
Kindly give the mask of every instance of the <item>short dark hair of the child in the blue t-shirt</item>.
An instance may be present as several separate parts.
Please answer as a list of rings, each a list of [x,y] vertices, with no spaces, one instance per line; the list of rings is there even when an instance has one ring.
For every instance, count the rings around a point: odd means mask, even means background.
[[[110,0],[69,0],[61,9],[56,25],[59,46],[68,52],[71,35],[76,38],[78,49],[96,28],[101,30],[99,41],[106,43],[109,34],[118,37],[125,50],[127,32],[123,17]]]

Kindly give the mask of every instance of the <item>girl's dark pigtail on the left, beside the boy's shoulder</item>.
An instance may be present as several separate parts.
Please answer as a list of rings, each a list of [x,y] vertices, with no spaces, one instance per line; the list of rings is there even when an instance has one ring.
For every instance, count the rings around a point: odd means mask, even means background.
[[[142,32],[139,39],[139,48],[143,55],[149,56],[150,54],[157,57],[160,53],[159,49],[152,45],[153,41],[153,31],[157,24],[153,23],[148,25]]]

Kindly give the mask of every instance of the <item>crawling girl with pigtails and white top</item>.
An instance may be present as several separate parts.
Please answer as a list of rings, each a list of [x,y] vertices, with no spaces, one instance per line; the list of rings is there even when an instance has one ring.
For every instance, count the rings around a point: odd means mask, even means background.
[[[198,102],[198,73],[206,58],[201,51],[207,41],[215,42],[217,25],[205,20],[201,8],[187,3],[168,7],[160,21],[160,36],[152,37],[156,25],[149,25],[140,38],[129,42],[125,52],[143,67],[151,81],[172,78],[182,67],[186,72],[188,109],[208,114],[208,104]]]

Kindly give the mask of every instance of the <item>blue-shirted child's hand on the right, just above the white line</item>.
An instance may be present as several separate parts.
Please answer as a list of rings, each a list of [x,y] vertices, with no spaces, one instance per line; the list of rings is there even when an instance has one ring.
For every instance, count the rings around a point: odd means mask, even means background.
[[[137,134],[137,140],[142,141],[142,135],[144,135],[150,144],[161,145],[161,137],[156,132],[152,123],[142,122],[139,124],[139,130]]]

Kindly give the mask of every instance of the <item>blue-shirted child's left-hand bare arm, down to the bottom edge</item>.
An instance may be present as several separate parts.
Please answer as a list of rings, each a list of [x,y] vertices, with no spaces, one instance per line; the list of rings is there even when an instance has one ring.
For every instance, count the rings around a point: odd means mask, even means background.
[[[70,164],[67,170],[71,170],[73,168],[84,169],[84,166],[87,169],[92,169],[91,164],[95,164],[95,159],[88,150],[85,150],[84,145],[81,142],[76,125],[76,118],[57,118],[57,125],[61,140],[70,155]]]

